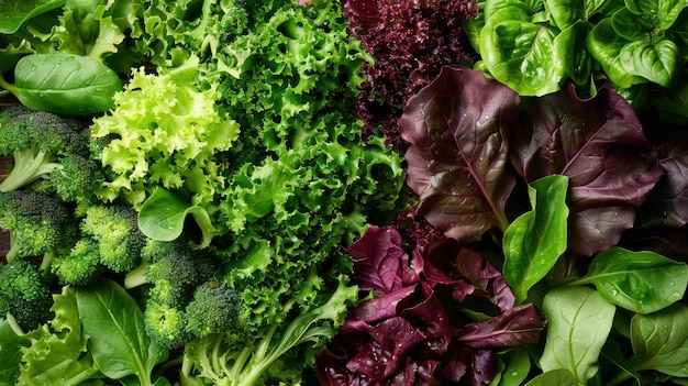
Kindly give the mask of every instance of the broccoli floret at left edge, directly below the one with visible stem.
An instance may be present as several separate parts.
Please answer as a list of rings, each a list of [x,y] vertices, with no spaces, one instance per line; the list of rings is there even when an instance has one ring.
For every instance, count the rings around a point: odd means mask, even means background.
[[[48,195],[27,190],[0,192],[0,229],[10,232],[8,262],[43,256],[47,264],[49,257],[70,247],[78,234],[67,207]]]

